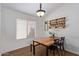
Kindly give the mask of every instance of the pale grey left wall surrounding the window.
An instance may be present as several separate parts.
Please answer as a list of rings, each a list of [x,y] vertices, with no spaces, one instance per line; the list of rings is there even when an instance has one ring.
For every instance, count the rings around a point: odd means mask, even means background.
[[[42,27],[41,18],[37,18],[35,16],[31,16],[4,6],[2,6],[1,12],[2,12],[2,21],[1,21],[2,40],[0,40],[1,52],[8,52],[11,50],[28,46],[29,43],[31,43],[31,41],[33,40],[33,38],[16,40],[16,18],[23,18],[27,20],[36,21],[36,36],[37,37],[42,36],[41,33],[43,29],[40,28]]]

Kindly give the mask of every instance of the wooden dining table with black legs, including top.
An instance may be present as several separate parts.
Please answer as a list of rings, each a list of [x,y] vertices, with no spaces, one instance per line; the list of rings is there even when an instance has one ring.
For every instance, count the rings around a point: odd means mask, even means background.
[[[58,38],[50,38],[50,37],[45,37],[45,38],[38,38],[36,40],[33,40],[33,55],[35,55],[35,44],[38,45],[43,45],[46,47],[46,56],[48,56],[48,48],[49,46],[53,45],[55,40]]]

